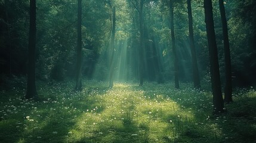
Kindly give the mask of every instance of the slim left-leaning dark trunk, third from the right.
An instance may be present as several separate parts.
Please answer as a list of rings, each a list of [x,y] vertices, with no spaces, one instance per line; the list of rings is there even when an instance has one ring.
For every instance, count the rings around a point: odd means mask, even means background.
[[[189,42],[190,42],[190,49],[191,49],[191,55],[192,55],[193,82],[194,82],[194,88],[199,89],[201,88],[201,85],[200,85],[199,71],[198,71],[198,60],[196,59],[191,0],[187,0],[187,13],[189,14]]]

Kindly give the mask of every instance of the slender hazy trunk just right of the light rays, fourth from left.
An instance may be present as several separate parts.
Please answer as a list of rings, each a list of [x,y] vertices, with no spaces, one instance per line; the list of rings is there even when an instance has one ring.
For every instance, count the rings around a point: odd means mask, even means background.
[[[143,62],[143,49],[144,49],[144,27],[143,27],[143,4],[144,0],[140,1],[140,48],[138,51],[139,56],[139,77],[140,77],[140,86],[143,85],[143,74],[144,74],[144,62]]]

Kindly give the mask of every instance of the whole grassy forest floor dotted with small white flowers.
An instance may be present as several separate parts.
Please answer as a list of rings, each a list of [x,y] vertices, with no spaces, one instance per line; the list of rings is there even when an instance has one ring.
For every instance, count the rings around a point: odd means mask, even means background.
[[[0,142],[256,142],[256,92],[236,89],[227,111],[212,114],[212,94],[189,83],[87,81],[38,83],[0,91]]]

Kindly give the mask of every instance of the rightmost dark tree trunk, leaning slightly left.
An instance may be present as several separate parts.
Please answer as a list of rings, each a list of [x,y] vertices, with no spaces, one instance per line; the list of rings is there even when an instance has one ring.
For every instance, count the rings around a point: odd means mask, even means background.
[[[220,16],[222,23],[223,42],[224,42],[224,59],[225,59],[225,77],[226,85],[224,91],[224,101],[232,102],[232,72],[230,60],[229,34],[227,32],[227,20],[223,0],[219,0]]]

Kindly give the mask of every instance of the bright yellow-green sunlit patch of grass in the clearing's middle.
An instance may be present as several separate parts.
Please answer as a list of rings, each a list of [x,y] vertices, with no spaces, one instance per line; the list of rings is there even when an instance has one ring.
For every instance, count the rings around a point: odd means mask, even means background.
[[[115,136],[127,138],[129,141],[134,139],[134,136],[143,136],[137,138],[138,141],[164,142],[166,138],[174,138],[174,132],[181,130],[183,122],[193,120],[192,114],[183,113],[177,102],[172,101],[166,93],[156,95],[158,91],[146,92],[136,85],[120,83],[105,94],[95,92],[93,96],[101,102],[101,108],[104,110],[100,113],[88,110],[79,119],[85,120],[82,122],[84,126],[78,123],[75,129],[84,133],[91,132],[90,135],[100,133],[104,138],[107,138],[106,135],[113,137],[114,132]],[[176,125],[177,129],[174,127]],[[90,141],[90,138],[91,136],[87,135],[84,141]],[[81,138],[72,140],[79,139]]]

